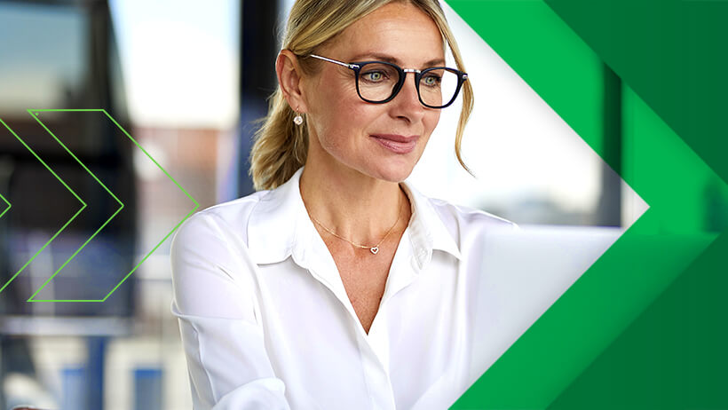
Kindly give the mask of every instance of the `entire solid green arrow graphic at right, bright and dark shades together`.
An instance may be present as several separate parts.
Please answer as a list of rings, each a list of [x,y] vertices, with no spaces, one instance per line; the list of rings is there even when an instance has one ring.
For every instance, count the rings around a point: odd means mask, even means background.
[[[453,408],[728,408],[728,235],[704,232],[728,215],[728,3],[447,3],[651,206]]]

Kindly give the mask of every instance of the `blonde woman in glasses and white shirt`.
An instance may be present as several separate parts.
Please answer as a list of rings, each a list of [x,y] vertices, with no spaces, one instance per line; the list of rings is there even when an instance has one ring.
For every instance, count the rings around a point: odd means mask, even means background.
[[[462,70],[437,0],[293,6],[251,154],[262,191],[172,244],[195,408],[445,408],[478,376],[469,281],[510,223],[402,182],[462,89],[460,159],[471,87],[437,68],[444,43]]]

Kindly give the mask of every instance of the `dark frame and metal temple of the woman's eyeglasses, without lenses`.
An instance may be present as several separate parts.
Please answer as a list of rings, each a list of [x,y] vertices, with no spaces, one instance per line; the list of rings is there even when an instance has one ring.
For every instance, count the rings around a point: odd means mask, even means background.
[[[352,62],[352,63],[345,63],[344,61],[339,61],[337,59],[328,59],[327,57],[321,57],[317,56],[315,54],[308,54],[307,57],[313,57],[314,59],[322,59],[324,61],[328,61],[329,63],[338,64],[339,66],[347,67],[351,69],[354,72],[354,75],[356,77],[356,93],[359,95],[359,98],[363,101],[366,101],[371,104],[384,104],[392,101],[395,97],[397,97],[397,94],[400,93],[400,90],[402,89],[402,85],[404,85],[405,81],[407,81],[407,73],[414,73],[415,74],[415,89],[417,90],[417,99],[420,100],[420,103],[423,106],[426,106],[428,108],[446,108],[447,106],[452,105],[455,102],[455,99],[457,99],[457,95],[460,93],[460,89],[463,87],[463,83],[468,79],[468,74],[464,73],[463,71],[457,70],[455,68],[450,67],[427,67],[423,70],[418,70],[416,68],[402,68],[394,63],[390,63],[387,61],[358,61],[358,62]],[[376,101],[372,99],[365,99],[361,96],[361,92],[359,90],[359,74],[361,69],[366,66],[367,64],[385,64],[387,66],[390,66],[397,70],[398,74],[400,75],[399,81],[394,85],[394,88],[392,88],[392,95],[389,96],[387,99],[383,99],[381,101]],[[422,99],[422,94],[420,94],[420,80],[422,79],[423,75],[426,75],[427,73],[435,70],[447,70],[451,73],[455,73],[457,75],[457,86],[455,87],[455,93],[453,94],[453,98],[447,101],[447,104],[442,106],[431,106],[427,103],[425,103]]]

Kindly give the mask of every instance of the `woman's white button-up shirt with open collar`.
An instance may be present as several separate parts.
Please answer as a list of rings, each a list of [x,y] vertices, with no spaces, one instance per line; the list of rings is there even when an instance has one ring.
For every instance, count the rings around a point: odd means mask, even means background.
[[[413,213],[367,334],[306,213],[302,170],[198,212],[172,241],[194,408],[452,405],[485,370],[469,367],[479,250],[510,222],[403,183]]]

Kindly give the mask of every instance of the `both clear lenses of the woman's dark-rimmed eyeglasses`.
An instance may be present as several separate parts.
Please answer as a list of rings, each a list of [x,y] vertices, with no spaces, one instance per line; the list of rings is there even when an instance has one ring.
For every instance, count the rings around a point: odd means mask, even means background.
[[[392,96],[400,83],[400,72],[388,64],[364,64],[359,73],[359,93],[362,99],[384,101]],[[458,75],[446,69],[424,70],[418,89],[420,99],[428,106],[443,106],[455,97]]]

